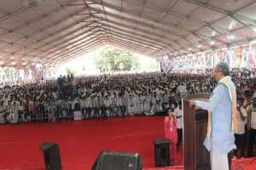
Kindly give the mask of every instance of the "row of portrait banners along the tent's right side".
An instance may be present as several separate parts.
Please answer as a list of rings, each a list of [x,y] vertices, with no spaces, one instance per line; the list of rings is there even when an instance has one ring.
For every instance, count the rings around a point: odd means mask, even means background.
[[[230,68],[256,68],[256,44],[201,54],[189,54],[172,59],[172,65],[174,69],[205,69],[213,68],[220,61],[228,63]]]

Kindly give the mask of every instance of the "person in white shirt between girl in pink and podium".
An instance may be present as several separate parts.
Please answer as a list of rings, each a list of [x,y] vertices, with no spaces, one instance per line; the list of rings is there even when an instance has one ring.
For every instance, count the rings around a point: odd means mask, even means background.
[[[183,111],[182,101],[178,102],[177,108],[174,110],[174,114],[177,118],[177,146],[181,146],[183,142]]]

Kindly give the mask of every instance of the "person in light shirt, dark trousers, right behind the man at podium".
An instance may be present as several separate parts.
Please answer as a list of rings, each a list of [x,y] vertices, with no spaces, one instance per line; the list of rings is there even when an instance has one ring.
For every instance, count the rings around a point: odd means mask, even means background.
[[[236,111],[236,128],[235,128],[235,158],[237,156],[237,150],[241,151],[241,157],[245,157],[246,150],[246,136],[245,136],[245,125],[247,118],[247,111],[242,107],[243,98],[237,98],[237,111]]]

